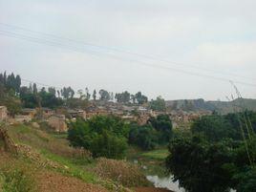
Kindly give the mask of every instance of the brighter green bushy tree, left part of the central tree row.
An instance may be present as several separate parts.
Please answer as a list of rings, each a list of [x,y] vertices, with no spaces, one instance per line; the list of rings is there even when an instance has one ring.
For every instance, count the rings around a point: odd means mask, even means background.
[[[118,117],[93,117],[70,123],[68,139],[75,147],[84,147],[93,156],[122,158],[127,148],[129,127]]]

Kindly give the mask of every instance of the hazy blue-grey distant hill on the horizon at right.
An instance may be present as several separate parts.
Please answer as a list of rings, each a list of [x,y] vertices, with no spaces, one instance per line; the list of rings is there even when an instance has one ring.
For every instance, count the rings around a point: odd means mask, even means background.
[[[237,98],[233,101],[205,101],[203,98],[167,100],[166,107],[168,111],[216,111],[227,114],[233,112],[234,108],[256,111],[256,99]]]

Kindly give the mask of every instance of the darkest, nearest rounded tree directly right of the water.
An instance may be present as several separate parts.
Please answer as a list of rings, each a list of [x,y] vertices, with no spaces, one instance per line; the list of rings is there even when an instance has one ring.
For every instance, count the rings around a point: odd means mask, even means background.
[[[174,139],[169,152],[167,169],[187,191],[221,192],[231,185],[231,174],[224,165],[231,162],[232,154],[223,143],[203,143],[199,138]]]

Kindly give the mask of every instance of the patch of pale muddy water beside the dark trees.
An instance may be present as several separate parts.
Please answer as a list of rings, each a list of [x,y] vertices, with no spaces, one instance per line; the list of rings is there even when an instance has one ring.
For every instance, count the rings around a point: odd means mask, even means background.
[[[157,188],[166,188],[175,192],[185,192],[183,188],[179,187],[179,182],[172,181],[172,176],[169,178],[160,178],[159,176],[147,176],[147,180],[154,183]]]

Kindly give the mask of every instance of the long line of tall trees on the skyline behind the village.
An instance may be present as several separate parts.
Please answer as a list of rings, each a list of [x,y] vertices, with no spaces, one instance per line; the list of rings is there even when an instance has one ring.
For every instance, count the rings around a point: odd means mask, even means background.
[[[116,95],[113,92],[108,92],[104,89],[101,89],[96,92],[90,93],[88,88],[84,90],[79,89],[77,93],[72,87],[63,87],[62,89],[55,89],[54,87],[38,88],[36,83],[30,83],[29,86],[21,85],[20,75],[7,75],[7,73],[0,74],[0,94],[2,96],[2,101],[0,104],[8,105],[10,111],[15,114],[21,107],[25,108],[36,108],[36,107],[48,107],[48,108],[57,108],[60,106],[66,106],[71,108],[85,108],[88,104],[88,101],[95,100],[98,97],[98,100],[103,101],[117,101],[117,103],[123,104],[145,104],[149,103],[149,106],[154,110],[164,110],[165,101],[163,98],[158,97],[156,100],[148,101],[148,97],[142,95],[141,92],[136,94],[130,94],[125,91],[122,93],[117,93]],[[5,95],[5,96],[4,96]],[[4,97],[6,100],[4,101]],[[12,103],[15,103],[17,106],[10,106],[8,99],[12,100]],[[18,102],[20,99],[20,102]],[[14,102],[15,100],[15,102]]]

